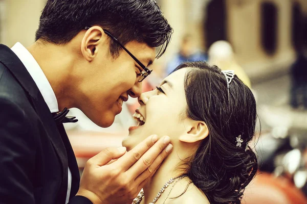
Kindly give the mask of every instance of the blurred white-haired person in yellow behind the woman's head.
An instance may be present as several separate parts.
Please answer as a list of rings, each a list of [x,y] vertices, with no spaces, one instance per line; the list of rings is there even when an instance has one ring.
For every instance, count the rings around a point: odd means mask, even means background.
[[[238,78],[251,88],[250,79],[244,69],[236,62],[229,42],[224,40],[214,42],[208,49],[208,62],[220,67],[222,70],[234,70]]]

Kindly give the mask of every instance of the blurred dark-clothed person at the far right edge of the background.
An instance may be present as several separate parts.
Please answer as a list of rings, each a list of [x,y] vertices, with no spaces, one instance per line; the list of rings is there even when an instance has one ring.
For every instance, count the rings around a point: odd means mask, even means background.
[[[293,108],[307,109],[307,49],[301,49],[291,66],[291,101]]]

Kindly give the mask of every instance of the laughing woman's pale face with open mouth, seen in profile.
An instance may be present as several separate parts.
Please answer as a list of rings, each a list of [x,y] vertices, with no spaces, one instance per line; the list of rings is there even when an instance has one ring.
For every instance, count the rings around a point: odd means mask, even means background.
[[[128,150],[135,147],[146,137],[169,136],[171,143],[178,142],[180,135],[186,132],[183,118],[186,117],[187,101],[184,90],[184,77],[188,68],[182,68],[166,77],[158,89],[142,93],[139,97],[140,108],[134,117],[138,126],[129,128],[129,136],[122,145]],[[141,116],[141,117],[140,117]]]

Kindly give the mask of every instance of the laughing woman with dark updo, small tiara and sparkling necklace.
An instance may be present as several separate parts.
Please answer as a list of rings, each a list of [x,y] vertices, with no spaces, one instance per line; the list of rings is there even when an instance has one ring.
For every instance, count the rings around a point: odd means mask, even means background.
[[[129,128],[123,146],[129,150],[157,134],[168,135],[173,150],[134,202],[240,203],[257,170],[248,146],[256,104],[236,75],[206,62],[183,63],[139,103],[139,124]]]

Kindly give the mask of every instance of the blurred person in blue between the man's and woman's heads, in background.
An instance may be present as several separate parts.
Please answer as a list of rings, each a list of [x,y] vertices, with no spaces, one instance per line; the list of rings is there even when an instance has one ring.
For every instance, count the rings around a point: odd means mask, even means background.
[[[187,34],[182,38],[179,53],[174,55],[173,58],[167,63],[166,75],[171,73],[173,69],[180,65],[182,62],[206,60],[207,56],[195,47],[195,42],[192,36]]]

